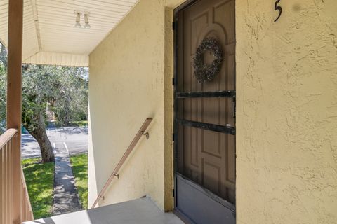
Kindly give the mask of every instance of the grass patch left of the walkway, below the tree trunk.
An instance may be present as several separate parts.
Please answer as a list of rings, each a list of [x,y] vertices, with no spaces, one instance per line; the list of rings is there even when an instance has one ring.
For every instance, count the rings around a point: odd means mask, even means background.
[[[34,218],[53,216],[54,163],[39,158],[22,160]]]

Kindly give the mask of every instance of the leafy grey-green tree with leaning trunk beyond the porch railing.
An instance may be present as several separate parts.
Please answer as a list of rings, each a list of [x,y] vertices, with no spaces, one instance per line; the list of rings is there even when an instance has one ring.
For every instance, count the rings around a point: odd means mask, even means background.
[[[4,60],[6,57],[2,57],[3,53],[1,51],[0,56],[0,125],[2,126],[6,120],[6,61]],[[22,66],[22,125],[39,143],[44,162],[54,160],[53,148],[46,134],[48,104],[50,104],[48,108],[55,113],[59,125],[66,125],[74,120],[86,120],[88,69],[37,64]]]

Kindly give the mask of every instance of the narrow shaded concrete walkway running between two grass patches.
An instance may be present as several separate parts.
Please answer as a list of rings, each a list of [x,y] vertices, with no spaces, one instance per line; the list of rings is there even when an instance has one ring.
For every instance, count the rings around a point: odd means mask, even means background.
[[[66,145],[55,148],[54,205],[53,214],[80,211],[81,203],[74,185],[74,174]]]

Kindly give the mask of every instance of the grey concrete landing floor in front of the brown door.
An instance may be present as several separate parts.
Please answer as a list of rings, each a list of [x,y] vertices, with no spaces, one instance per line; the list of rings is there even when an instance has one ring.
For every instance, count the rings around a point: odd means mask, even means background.
[[[129,202],[121,202],[96,209],[77,211],[25,224],[183,224],[172,214],[164,213],[150,200],[144,197]]]

